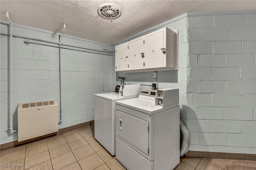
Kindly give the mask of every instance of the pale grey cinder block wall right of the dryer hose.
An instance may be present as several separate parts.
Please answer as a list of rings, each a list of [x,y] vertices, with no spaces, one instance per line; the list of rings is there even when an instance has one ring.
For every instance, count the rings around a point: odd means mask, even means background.
[[[189,150],[256,154],[256,14],[188,22]]]

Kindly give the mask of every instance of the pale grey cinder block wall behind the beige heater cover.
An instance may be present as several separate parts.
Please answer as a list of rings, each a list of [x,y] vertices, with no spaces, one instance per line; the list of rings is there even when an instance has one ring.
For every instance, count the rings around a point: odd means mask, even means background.
[[[33,29],[33,28],[32,28]],[[28,30],[13,26],[13,34],[58,42],[58,36],[46,31]],[[1,24],[1,33],[8,33]],[[1,100],[0,144],[18,139],[17,132],[9,134],[8,116],[8,37],[1,40]],[[22,38],[12,38],[12,115],[17,130],[17,105],[33,101],[57,99],[60,111],[60,79],[58,48],[24,44]],[[111,49],[107,44],[93,43],[77,38],[61,37],[61,43],[91,49]],[[62,58],[62,123],[70,127],[94,120],[94,94],[112,91],[112,57],[68,49],[61,50]],[[58,115],[60,113],[58,112]],[[60,116],[59,116],[60,119]]]

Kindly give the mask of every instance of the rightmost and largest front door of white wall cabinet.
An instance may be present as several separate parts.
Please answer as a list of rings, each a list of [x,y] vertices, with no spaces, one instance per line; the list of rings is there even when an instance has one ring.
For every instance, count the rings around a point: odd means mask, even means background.
[[[143,69],[163,67],[164,54],[161,48],[164,48],[164,31],[145,36],[143,48],[145,57],[142,59]]]

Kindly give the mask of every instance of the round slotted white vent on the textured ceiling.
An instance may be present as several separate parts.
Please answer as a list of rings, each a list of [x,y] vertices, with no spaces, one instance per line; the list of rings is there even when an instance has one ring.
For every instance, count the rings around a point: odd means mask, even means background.
[[[111,19],[118,18],[121,14],[120,8],[114,4],[102,4],[99,7],[98,12],[100,16]]]

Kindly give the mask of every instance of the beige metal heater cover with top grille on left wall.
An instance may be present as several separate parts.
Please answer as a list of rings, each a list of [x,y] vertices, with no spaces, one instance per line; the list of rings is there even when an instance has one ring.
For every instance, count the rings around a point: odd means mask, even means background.
[[[57,131],[57,100],[18,104],[18,142]]]

